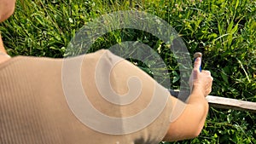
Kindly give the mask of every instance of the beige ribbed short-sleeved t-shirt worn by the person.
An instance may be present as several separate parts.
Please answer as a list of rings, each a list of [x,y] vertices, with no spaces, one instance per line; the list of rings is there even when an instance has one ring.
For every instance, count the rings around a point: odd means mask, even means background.
[[[169,96],[108,50],[17,56],[0,64],[0,143],[158,143],[170,124]]]

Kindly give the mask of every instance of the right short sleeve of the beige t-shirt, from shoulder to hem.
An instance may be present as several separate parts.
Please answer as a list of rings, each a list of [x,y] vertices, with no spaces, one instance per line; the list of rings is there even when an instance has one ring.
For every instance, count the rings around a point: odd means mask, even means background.
[[[110,87],[107,86],[108,89],[103,90],[102,95],[110,98],[108,103],[113,103],[123,118],[122,135],[131,136],[135,143],[162,141],[172,112],[169,91],[130,61],[108,50],[100,59],[108,61],[109,65],[108,68],[106,63],[100,66],[101,60],[97,64],[99,73],[104,73],[102,87],[106,88],[106,78],[110,79]]]

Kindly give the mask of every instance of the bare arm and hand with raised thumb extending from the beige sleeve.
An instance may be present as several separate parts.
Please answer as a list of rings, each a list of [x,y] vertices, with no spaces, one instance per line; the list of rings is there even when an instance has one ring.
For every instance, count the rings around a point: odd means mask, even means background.
[[[195,138],[201,133],[205,124],[208,112],[207,96],[212,90],[212,77],[208,71],[199,71],[201,59],[195,61],[192,72],[191,85],[193,86],[188,104],[184,105],[181,115],[169,125],[169,130],[164,141],[179,141],[184,139]],[[181,101],[171,96],[173,106],[181,107]],[[178,103],[178,104],[177,104]]]

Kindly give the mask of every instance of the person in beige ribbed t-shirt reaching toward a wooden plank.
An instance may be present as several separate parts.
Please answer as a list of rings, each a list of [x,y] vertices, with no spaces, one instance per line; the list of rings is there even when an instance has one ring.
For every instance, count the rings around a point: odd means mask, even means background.
[[[0,3],[0,21],[3,21],[13,14],[15,0],[0,0]],[[81,59],[83,62],[80,73],[73,72],[72,66]],[[114,60],[119,60],[119,63],[116,64]],[[67,61],[72,65],[67,69],[70,76],[66,78],[62,72],[64,60],[26,56],[10,58],[3,47],[2,39],[0,40],[0,143],[139,144],[158,143],[163,140],[179,141],[200,134],[208,111],[205,96],[212,88],[211,73],[199,71],[200,58],[196,59],[192,72],[193,89],[188,104],[167,94],[166,89],[155,83],[154,79],[137,66],[131,65],[108,50],[99,50]],[[110,75],[106,72],[108,69],[111,69]],[[129,72],[126,69],[129,69]],[[97,112],[102,112],[109,118],[131,118],[148,107],[154,94],[157,94],[159,100],[166,100],[166,103],[160,105],[164,106],[163,109],[142,129],[137,127],[143,125],[150,114],[154,115],[154,110],[147,113],[148,117],[137,118],[135,124],[128,125],[125,124],[125,119],[119,121],[120,124],[113,124],[93,117],[79,118],[72,102],[79,105],[80,101],[76,101],[74,97],[69,100],[67,97],[70,91],[72,95],[79,95],[79,89],[76,84],[63,84],[65,80],[73,82],[77,75],[90,103]],[[109,76],[110,81],[105,79]],[[131,77],[138,78],[139,84],[142,85],[136,101],[129,105],[117,106],[102,98],[101,89],[96,84],[98,78],[100,84],[109,83],[118,95],[124,95],[129,91],[130,87],[128,88],[126,83]],[[105,93],[111,90],[105,89]],[[177,106],[182,106],[183,110],[175,114]],[[154,109],[158,109],[158,106]],[[89,111],[89,108],[86,110]],[[178,117],[172,118],[173,115]],[[94,127],[89,123],[96,125]],[[97,126],[108,132],[96,129]],[[135,130],[129,131],[133,128]],[[119,130],[119,133],[114,133],[114,130]]]

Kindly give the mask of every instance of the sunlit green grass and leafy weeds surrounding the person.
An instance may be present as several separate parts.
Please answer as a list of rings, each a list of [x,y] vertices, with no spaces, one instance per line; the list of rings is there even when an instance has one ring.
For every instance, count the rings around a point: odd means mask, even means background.
[[[15,14],[0,24],[9,55],[61,58],[80,27],[102,14],[138,9],[159,16],[176,29],[189,53],[201,51],[203,69],[214,78],[212,94],[256,102],[255,0],[23,0]],[[178,66],[173,54],[152,34],[124,29],[99,38],[93,49],[138,41],[158,51],[166,61],[172,89],[178,89]],[[150,68],[139,65],[150,74]],[[168,144],[168,142],[162,142]],[[256,116],[251,112],[210,108],[201,135],[173,143],[256,143]]]

